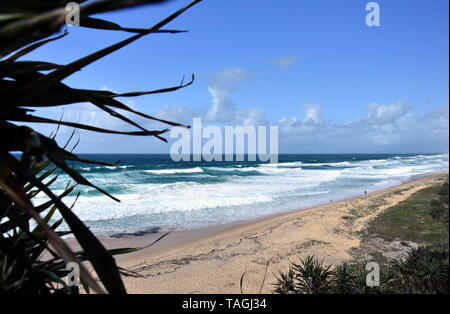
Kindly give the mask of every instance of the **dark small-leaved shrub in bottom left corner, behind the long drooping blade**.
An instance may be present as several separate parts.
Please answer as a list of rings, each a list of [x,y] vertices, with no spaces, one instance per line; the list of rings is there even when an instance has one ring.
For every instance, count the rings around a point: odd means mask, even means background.
[[[46,163],[48,165],[48,162]],[[40,177],[51,175],[56,168],[52,167],[47,171],[43,170]],[[36,167],[31,169],[36,173]],[[50,186],[55,180],[50,180]],[[68,185],[64,192],[58,197],[63,199],[70,194],[75,185]],[[26,188],[30,201],[39,192],[36,186],[30,185]],[[0,294],[6,293],[77,293],[77,286],[67,286],[62,280],[68,274],[58,255],[49,247],[49,241],[45,237],[42,228],[30,227],[30,218],[20,210],[16,204],[9,201],[5,194],[0,191],[0,204],[5,206],[9,203],[9,220],[0,224],[2,236],[0,237]],[[57,231],[62,219],[52,219],[56,206],[53,201],[49,201],[35,207],[37,212],[47,211],[44,220],[49,224],[51,230],[59,235],[67,235],[70,232]],[[14,217],[14,218],[13,218]],[[49,254],[49,258],[43,260],[44,252]],[[78,256],[79,258],[80,256]]]

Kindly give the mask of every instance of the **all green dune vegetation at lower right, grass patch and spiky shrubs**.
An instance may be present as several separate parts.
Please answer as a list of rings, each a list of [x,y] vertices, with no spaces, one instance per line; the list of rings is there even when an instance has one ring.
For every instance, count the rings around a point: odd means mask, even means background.
[[[314,256],[291,263],[277,276],[279,294],[370,294],[425,293],[448,294],[448,178],[445,183],[422,189],[388,208],[363,234],[363,242],[373,237],[400,240],[409,247],[404,256],[388,260],[382,252],[369,252],[380,264],[380,285],[366,284],[366,264],[325,265]],[[343,219],[351,219],[343,216]]]

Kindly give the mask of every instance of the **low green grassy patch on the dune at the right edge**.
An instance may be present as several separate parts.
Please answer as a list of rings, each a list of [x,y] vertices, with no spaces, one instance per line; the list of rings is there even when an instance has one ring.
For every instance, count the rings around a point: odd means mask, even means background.
[[[436,207],[439,213],[447,212],[446,222],[445,218],[433,218]],[[442,185],[422,189],[386,209],[369,223],[366,233],[386,241],[403,240],[420,244],[448,238],[448,180]]]

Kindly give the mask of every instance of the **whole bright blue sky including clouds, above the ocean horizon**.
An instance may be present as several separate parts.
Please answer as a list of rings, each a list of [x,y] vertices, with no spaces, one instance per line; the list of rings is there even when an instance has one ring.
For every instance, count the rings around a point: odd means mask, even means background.
[[[278,126],[280,153],[448,152],[448,1],[376,1],[378,27],[366,25],[368,2],[204,0],[166,26],[189,32],[143,37],[64,82],[123,93],[175,86],[195,74],[194,84],[176,92],[121,100],[187,124],[200,117],[205,125]],[[97,17],[144,28],[187,3]],[[68,31],[23,60],[66,64],[131,36],[76,26]],[[87,103],[35,114],[133,130]],[[33,127],[44,134],[55,129]],[[69,133],[62,129],[58,141]],[[79,136],[78,153],[168,153],[173,143]]]

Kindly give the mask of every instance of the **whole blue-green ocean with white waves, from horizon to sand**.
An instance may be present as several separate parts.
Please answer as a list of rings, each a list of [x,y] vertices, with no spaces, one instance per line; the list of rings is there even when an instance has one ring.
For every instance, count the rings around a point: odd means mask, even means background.
[[[73,210],[97,235],[194,229],[288,212],[448,169],[448,154],[280,155],[261,162],[173,162],[169,155],[80,154],[116,166],[73,163],[95,185],[79,186]],[[52,189],[61,193],[69,178]],[[71,205],[75,194],[64,198]],[[44,202],[39,194],[34,203]],[[58,218],[58,217],[55,217]]]

